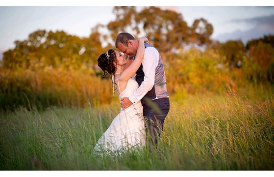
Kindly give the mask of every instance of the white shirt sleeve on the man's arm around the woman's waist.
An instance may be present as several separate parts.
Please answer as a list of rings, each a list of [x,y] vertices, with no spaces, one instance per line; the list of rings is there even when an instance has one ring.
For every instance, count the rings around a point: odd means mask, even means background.
[[[132,104],[140,101],[149,90],[151,90],[154,86],[155,81],[155,71],[159,62],[159,53],[153,47],[147,47],[145,49],[143,64],[143,71],[145,73],[144,81],[140,85],[140,87],[133,92],[132,95],[128,97],[129,101]]]

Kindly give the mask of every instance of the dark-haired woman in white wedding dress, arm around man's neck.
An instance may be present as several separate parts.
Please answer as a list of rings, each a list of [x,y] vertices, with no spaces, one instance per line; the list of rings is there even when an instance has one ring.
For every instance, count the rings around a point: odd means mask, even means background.
[[[98,66],[104,72],[103,77],[107,73],[112,75],[120,102],[121,98],[130,96],[139,87],[133,76],[143,61],[146,41],[146,37],[139,39],[137,54],[131,64],[127,63],[125,55],[113,49],[109,49],[98,58]],[[117,154],[129,149],[142,149],[145,146],[145,136],[143,106],[139,101],[125,110],[121,108],[120,113],[98,140],[94,152]]]

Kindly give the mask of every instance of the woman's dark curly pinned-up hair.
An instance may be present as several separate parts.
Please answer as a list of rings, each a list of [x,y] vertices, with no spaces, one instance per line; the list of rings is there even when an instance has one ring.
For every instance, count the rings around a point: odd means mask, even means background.
[[[113,61],[115,60],[116,55],[113,49],[109,49],[106,53],[101,54],[100,57],[97,59],[98,66],[104,72],[103,78],[105,78],[107,74],[113,74],[115,72],[116,67],[113,64]]]

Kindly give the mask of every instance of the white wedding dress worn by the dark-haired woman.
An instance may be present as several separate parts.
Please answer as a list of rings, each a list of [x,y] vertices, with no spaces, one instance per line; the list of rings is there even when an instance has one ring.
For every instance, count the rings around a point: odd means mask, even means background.
[[[119,87],[119,84],[118,84]],[[138,83],[130,78],[126,88],[119,95],[121,98],[129,97],[136,89]],[[94,153],[119,154],[129,149],[142,149],[145,146],[145,122],[143,118],[143,106],[141,101],[131,105],[113,119],[108,129],[98,140]]]

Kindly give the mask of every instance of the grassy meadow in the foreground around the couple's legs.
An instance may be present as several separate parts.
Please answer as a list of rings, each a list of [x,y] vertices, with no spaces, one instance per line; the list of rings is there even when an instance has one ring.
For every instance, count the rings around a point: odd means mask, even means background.
[[[157,149],[91,156],[119,104],[0,115],[0,170],[274,170],[274,89],[171,96]]]

